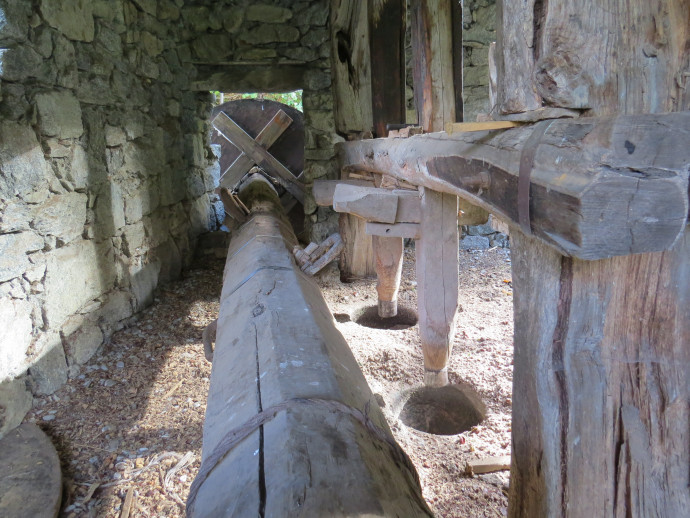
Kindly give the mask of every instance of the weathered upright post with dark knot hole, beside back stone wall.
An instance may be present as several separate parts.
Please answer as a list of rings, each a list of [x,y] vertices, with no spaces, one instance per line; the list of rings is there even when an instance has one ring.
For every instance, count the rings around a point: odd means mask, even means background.
[[[368,0],[331,0],[330,31],[336,132],[373,131]]]

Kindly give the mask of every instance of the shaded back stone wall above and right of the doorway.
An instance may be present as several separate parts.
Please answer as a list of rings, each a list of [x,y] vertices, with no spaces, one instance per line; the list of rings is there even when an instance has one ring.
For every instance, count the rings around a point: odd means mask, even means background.
[[[305,167],[302,180],[337,178],[331,91],[328,0],[196,2],[181,10],[185,60],[199,71],[193,88],[223,92],[303,90]],[[333,211],[307,196],[313,239],[337,229]]]

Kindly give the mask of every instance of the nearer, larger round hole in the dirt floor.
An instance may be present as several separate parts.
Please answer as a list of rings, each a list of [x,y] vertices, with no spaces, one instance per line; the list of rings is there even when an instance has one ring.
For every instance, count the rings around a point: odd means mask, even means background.
[[[465,385],[414,389],[400,412],[410,428],[434,435],[456,435],[478,425],[486,416],[479,395]]]

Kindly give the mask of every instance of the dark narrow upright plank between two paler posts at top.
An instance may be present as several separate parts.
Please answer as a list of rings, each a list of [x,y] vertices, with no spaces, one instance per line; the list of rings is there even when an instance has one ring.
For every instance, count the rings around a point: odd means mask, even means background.
[[[405,123],[405,0],[369,1],[374,135],[386,124]]]

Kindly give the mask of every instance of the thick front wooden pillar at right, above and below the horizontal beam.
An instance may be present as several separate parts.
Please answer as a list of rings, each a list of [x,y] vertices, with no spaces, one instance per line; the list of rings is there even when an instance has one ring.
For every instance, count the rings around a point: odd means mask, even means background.
[[[687,1],[532,0],[502,11],[498,102],[510,117],[690,108],[678,81],[690,70]],[[644,153],[637,143],[626,141],[630,159]],[[511,249],[509,515],[686,516],[690,229],[667,251],[596,261],[563,256],[517,228]]]

